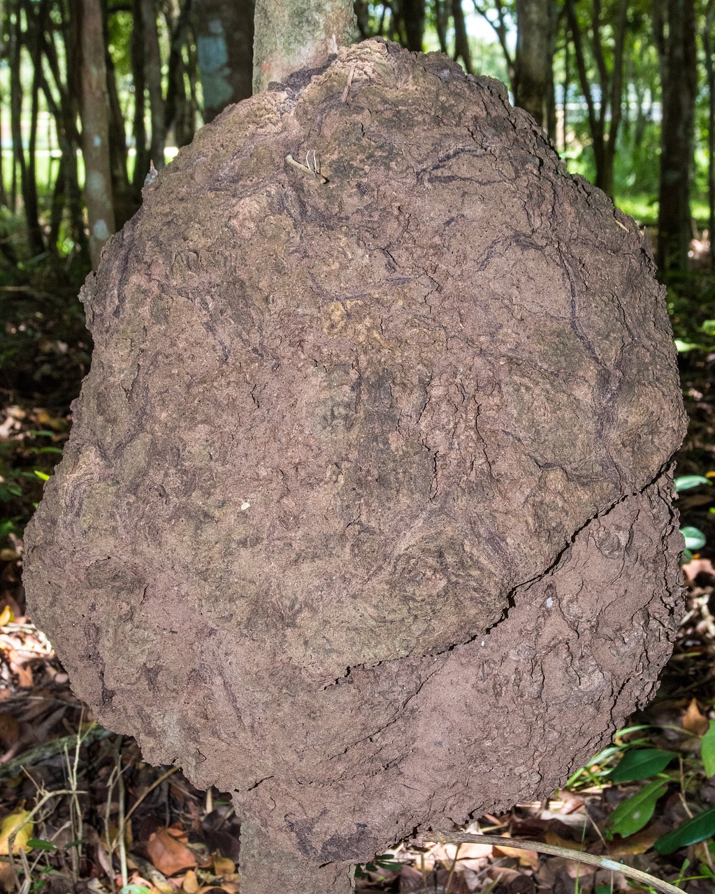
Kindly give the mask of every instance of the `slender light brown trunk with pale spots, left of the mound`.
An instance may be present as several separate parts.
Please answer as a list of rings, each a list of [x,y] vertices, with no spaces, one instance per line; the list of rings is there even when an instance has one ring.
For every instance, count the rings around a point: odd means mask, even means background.
[[[89,255],[96,268],[106,241],[115,232],[104,29],[100,0],[75,0],[75,3],[81,51],[84,197],[89,219]]]

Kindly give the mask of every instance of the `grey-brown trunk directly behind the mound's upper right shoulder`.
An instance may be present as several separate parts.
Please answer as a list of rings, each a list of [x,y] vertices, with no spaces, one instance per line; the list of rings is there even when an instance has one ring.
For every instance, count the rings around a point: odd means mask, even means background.
[[[553,20],[551,0],[516,0],[514,101],[545,131],[553,95]]]

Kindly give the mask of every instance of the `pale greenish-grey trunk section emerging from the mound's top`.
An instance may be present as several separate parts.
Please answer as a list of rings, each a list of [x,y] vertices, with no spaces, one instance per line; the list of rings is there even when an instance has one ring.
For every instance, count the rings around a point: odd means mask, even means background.
[[[349,0],[256,0],[253,91],[299,68],[321,68],[356,33]]]

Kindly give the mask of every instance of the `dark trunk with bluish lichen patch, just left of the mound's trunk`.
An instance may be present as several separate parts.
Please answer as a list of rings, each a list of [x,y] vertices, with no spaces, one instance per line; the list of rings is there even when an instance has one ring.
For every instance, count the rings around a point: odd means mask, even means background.
[[[196,0],[194,9],[204,121],[209,122],[229,103],[251,96],[253,2]]]

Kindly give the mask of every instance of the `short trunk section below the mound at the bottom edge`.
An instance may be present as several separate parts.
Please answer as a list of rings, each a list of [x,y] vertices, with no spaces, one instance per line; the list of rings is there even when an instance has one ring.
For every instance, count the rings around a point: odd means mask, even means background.
[[[256,822],[241,825],[241,894],[351,894],[353,867],[296,856],[281,833]]]

